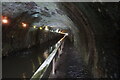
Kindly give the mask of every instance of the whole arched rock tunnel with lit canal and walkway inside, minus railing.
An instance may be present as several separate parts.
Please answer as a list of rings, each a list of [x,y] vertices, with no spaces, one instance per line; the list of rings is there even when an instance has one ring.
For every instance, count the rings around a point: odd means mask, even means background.
[[[3,79],[31,78],[64,38],[55,73],[48,67],[45,78],[118,79],[119,4],[3,2]]]

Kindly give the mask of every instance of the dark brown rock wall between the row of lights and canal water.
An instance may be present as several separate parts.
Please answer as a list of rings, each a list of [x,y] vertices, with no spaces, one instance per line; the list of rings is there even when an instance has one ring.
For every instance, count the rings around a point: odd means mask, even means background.
[[[12,51],[14,52],[45,43],[57,36],[60,36],[60,34],[40,31],[39,29],[34,31],[30,31],[30,29],[16,30],[14,33],[10,31],[2,37],[4,40],[2,41],[2,55],[7,56]]]

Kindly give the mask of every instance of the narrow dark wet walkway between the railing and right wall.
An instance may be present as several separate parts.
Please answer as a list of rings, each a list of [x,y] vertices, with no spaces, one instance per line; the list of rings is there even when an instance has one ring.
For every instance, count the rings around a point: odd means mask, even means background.
[[[90,78],[90,73],[83,64],[80,53],[68,39],[65,41],[63,55],[56,67],[56,75],[50,78]]]

